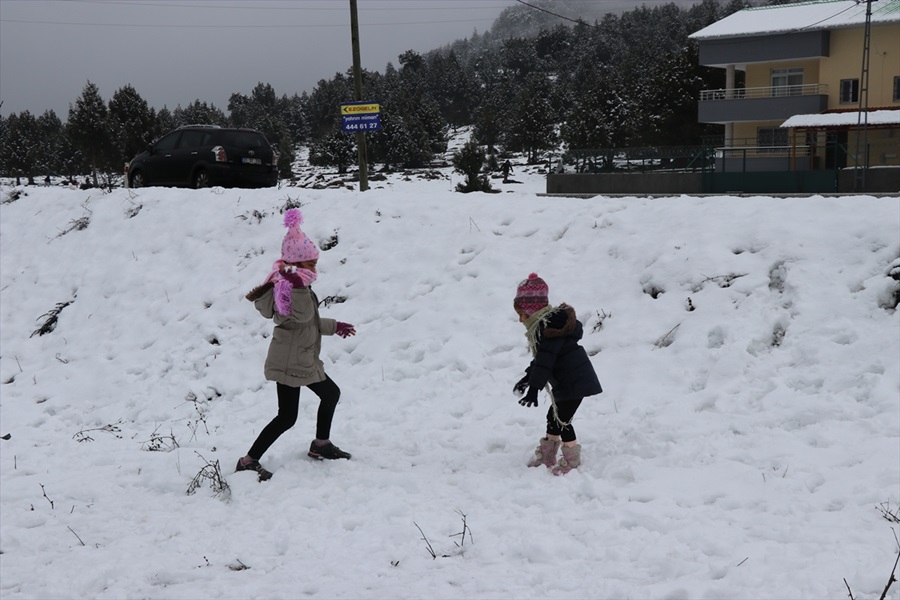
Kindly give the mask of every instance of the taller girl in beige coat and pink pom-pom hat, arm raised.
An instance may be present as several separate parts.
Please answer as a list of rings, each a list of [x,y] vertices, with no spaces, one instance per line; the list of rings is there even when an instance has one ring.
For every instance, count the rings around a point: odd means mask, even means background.
[[[308,387],[319,397],[316,439],[308,455],[318,460],[350,458],[331,443],[331,421],[341,390],[325,373],[319,354],[323,335],[356,335],[353,325],[319,316],[319,301],[310,285],[316,280],[319,250],[300,230],[303,216],[297,209],[285,213],[288,233],[266,281],[247,294],[256,310],[275,322],[265,376],[276,383],[278,414],[260,432],[247,455],[238,460],[235,471],[256,471],[260,481],[272,473],[259,464],[266,450],[297,421],[300,388]]]

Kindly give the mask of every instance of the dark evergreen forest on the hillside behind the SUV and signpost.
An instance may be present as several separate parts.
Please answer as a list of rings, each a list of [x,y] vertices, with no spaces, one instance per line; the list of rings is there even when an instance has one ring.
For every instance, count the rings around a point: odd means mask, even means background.
[[[700,91],[723,87],[724,71],[699,66],[688,36],[750,5],[640,6],[587,22],[560,19],[565,2],[515,4],[484,33],[424,54],[406,51],[383,73],[363,71],[364,99],[381,106],[381,130],[366,133],[370,168],[428,166],[461,127],[488,157],[518,154],[529,163],[560,147],[700,144],[721,133],[697,122]],[[52,110],[0,118],[0,175],[29,183],[90,175],[94,185],[108,184],[148,144],[186,124],[263,132],[285,179],[302,146],[310,164],[344,173],[357,148],[356,136],[341,131],[339,107],[354,99],[351,68],[299,95],[260,82],[249,95],[233,93],[224,108],[201,99],[152,107],[130,84],[107,100],[88,81],[65,121]]]

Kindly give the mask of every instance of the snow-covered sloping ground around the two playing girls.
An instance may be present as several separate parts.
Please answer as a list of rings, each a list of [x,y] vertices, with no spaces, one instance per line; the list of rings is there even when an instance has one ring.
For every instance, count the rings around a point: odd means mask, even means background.
[[[900,200],[544,198],[524,171],[493,195],[447,172],[0,189],[0,595],[878,598],[900,530]],[[233,469],[275,414],[271,324],[243,296],[296,203],[336,241],[322,314],[358,331],[323,342],[353,459],[306,457],[304,390],[259,483]],[[525,466],[547,398],[511,392],[531,271],[605,388],[563,477]]]

